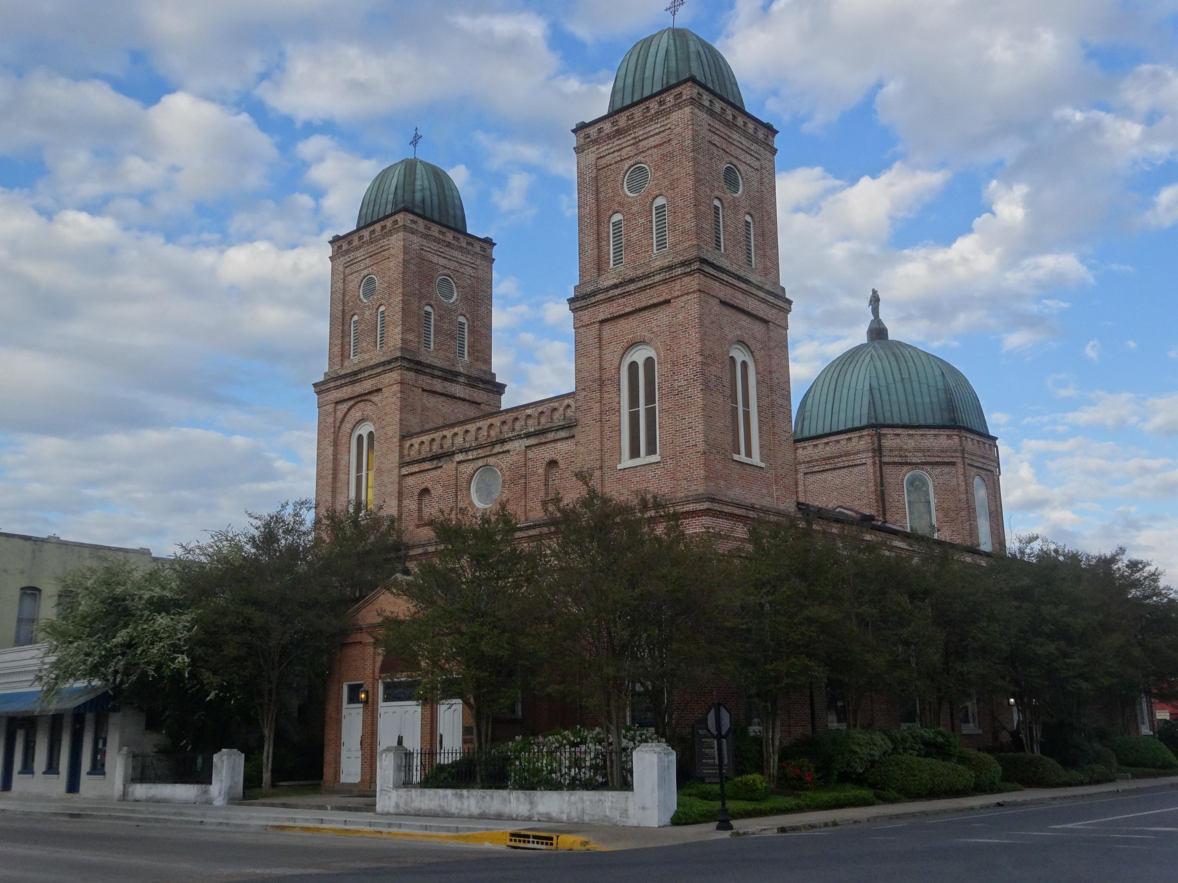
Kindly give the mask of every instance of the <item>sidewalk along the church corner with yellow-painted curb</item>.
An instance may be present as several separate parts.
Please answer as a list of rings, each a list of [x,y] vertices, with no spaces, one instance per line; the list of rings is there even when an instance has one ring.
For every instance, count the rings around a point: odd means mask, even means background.
[[[359,837],[390,837],[488,845],[530,845],[548,849],[640,849],[674,847],[682,843],[720,839],[734,835],[783,834],[810,828],[860,824],[878,819],[908,818],[939,812],[968,812],[995,805],[1031,805],[1092,795],[1145,789],[1178,789],[1178,777],[1111,782],[1081,788],[1028,789],[1005,795],[952,797],[876,806],[854,806],[821,812],[794,812],[785,816],[742,818],[733,822],[733,834],[715,830],[715,823],[670,828],[622,828],[598,824],[555,824],[511,819],[432,818],[424,816],[378,816],[356,804],[364,798],[333,798],[315,795],[274,801],[270,805],[250,801],[231,806],[194,806],[170,803],[126,803],[115,801],[6,796],[0,798],[0,816],[19,814],[55,818],[99,818],[137,824],[203,825],[252,831],[331,834]],[[348,809],[325,805],[350,804]],[[274,805],[278,804],[278,805]],[[313,805],[309,805],[313,804]],[[532,837],[532,835],[540,835]],[[551,835],[545,838],[543,835]],[[531,843],[523,841],[532,839]]]

